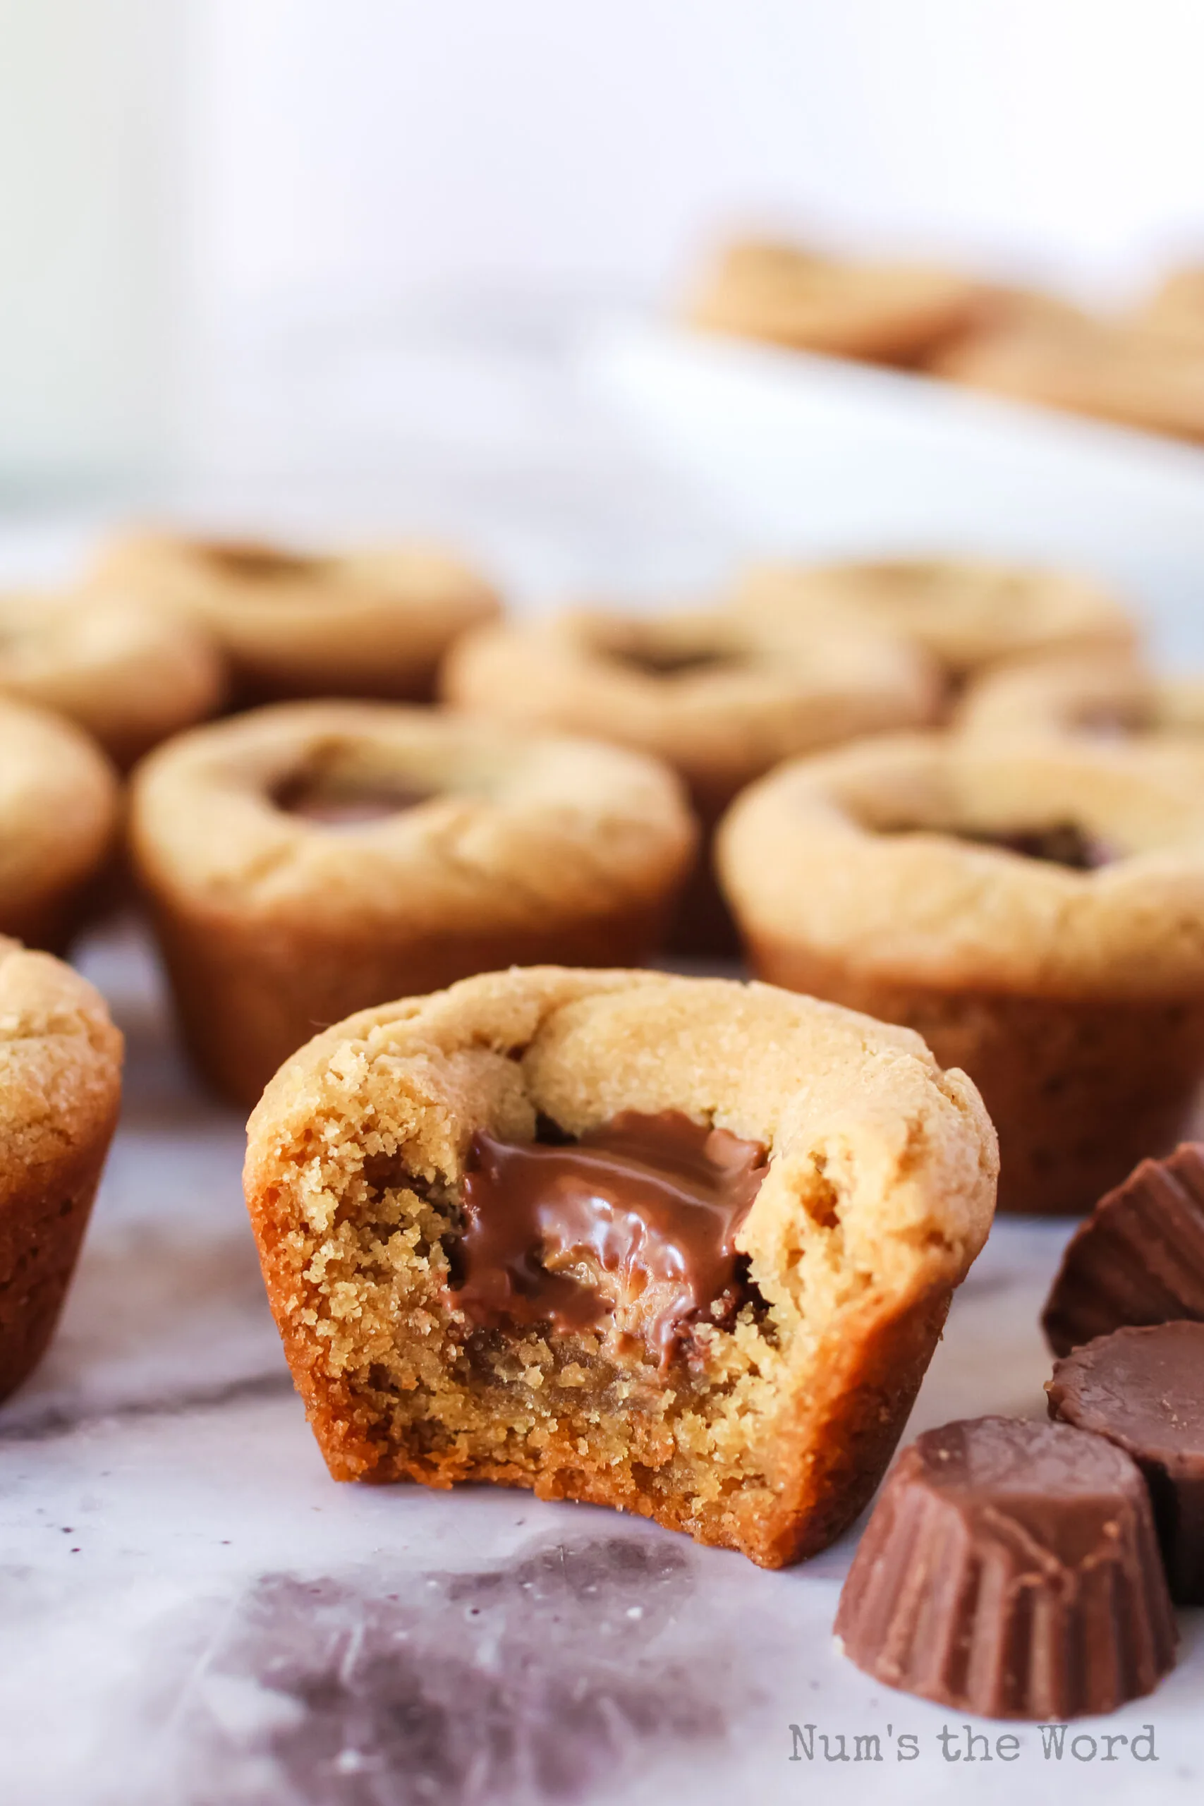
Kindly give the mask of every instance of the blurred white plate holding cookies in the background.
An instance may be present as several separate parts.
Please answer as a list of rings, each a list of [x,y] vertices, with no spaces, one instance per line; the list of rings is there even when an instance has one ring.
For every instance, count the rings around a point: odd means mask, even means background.
[[[1204,663],[1204,452],[922,376],[610,321],[590,394],[735,515],[749,551],[966,551],[1069,563]]]

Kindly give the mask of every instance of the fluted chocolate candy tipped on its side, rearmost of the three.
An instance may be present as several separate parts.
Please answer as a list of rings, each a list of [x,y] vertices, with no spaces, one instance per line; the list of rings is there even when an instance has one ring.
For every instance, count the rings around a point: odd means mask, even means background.
[[[1143,1159],[1061,1257],[1042,1327],[1054,1354],[1123,1324],[1204,1318],[1204,1145]]]

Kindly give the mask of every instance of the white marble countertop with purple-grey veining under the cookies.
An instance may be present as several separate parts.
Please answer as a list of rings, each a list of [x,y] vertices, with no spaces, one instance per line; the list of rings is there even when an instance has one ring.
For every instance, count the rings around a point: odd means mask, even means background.
[[[735,513],[587,419],[545,361],[495,347],[469,358],[473,381],[448,361],[473,390],[471,432],[424,352],[430,406],[406,390],[404,430],[383,381],[339,388],[341,439],[318,433],[327,403],[294,397],[300,428],[276,408],[264,430],[273,459],[235,435],[245,464],[229,450],[195,473],[186,506],[321,529],[471,526],[531,594],[652,594],[751,549]],[[309,462],[289,462],[294,444]],[[22,569],[67,544],[0,538]],[[1045,1754],[1034,1727],[975,1725],[1014,1730],[1020,1752],[975,1743],[971,1761],[964,1721],[838,1654],[856,1533],[773,1575],[596,1508],[336,1486],[264,1300],[242,1122],[182,1067],[137,925],[97,932],[79,964],[128,1037],[126,1102],[60,1335],[0,1409],[5,1806],[1199,1797],[1200,1613],[1181,1616],[1157,1694],[1072,1727],[1088,1739],[1076,1752]],[[996,1223],[910,1434],[1043,1410],[1036,1317],[1065,1235]],[[1146,1737],[1108,1763],[1090,1741],[1144,1725],[1152,1752]]]

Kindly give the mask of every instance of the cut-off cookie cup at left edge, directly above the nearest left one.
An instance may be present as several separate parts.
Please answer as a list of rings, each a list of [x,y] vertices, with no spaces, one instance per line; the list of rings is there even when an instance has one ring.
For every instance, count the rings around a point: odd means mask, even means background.
[[[60,950],[97,892],[117,778],[60,715],[0,699],[0,934]]]

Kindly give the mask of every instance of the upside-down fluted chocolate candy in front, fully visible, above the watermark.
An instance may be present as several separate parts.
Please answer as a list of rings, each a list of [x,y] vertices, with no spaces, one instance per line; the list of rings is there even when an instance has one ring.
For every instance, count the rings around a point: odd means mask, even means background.
[[[984,1718],[1150,1692],[1175,1620],[1137,1465],[1065,1423],[928,1430],[881,1492],[836,1634],[875,1680]]]

